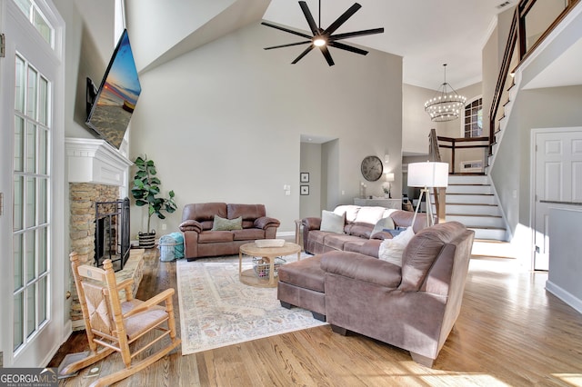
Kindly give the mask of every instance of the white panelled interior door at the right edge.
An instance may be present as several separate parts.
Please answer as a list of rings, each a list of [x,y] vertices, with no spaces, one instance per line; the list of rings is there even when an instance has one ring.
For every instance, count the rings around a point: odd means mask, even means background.
[[[535,270],[549,268],[549,207],[582,203],[582,128],[535,134]]]

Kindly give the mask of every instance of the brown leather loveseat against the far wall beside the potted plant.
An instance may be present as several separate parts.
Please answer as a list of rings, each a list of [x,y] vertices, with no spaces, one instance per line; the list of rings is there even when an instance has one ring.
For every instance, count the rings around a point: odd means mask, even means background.
[[[227,221],[240,217],[240,226],[235,227],[239,229],[213,230],[215,216]],[[266,216],[264,204],[186,204],[180,223],[186,259],[236,254],[242,244],[275,238],[279,224]]]

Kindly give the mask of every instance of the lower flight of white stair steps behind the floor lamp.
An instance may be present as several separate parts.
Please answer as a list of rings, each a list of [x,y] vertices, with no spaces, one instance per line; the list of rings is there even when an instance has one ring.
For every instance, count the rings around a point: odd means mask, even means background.
[[[449,175],[445,202],[447,222],[465,224],[475,230],[476,239],[507,241],[506,223],[487,175]]]

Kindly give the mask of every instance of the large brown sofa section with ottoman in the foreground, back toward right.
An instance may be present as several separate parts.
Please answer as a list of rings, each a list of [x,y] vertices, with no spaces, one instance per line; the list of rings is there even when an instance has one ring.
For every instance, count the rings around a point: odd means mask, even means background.
[[[431,367],[457,321],[475,232],[449,222],[406,245],[402,266],[334,251],[279,268],[277,297],[326,320],[409,351]]]

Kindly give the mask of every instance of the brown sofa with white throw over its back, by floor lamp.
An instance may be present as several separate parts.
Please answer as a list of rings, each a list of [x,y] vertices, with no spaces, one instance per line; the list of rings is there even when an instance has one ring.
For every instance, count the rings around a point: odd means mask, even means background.
[[[392,234],[382,232],[382,227],[375,233],[376,223],[390,217],[395,227],[409,227],[415,215],[409,211],[359,205],[338,205],[334,213],[346,214],[343,233],[321,231],[322,218],[320,217],[308,217],[301,220],[306,253],[320,254],[340,250],[363,253],[377,258],[380,243],[384,239],[392,238]],[[426,213],[418,213],[413,229],[417,233],[424,227],[426,227]]]

